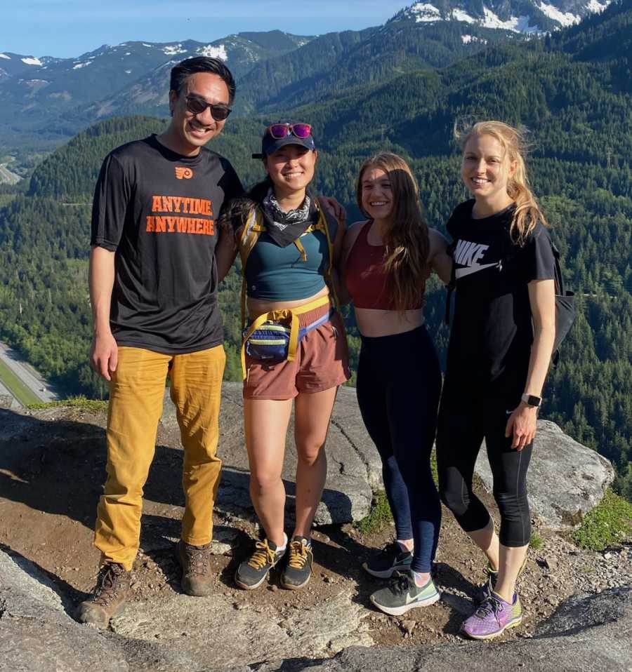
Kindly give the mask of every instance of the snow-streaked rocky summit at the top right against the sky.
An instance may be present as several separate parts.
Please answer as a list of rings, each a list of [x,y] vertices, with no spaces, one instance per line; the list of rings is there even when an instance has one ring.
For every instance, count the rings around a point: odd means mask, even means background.
[[[460,21],[485,28],[541,34],[602,12],[611,0],[430,0],[402,9],[390,22],[423,25]]]

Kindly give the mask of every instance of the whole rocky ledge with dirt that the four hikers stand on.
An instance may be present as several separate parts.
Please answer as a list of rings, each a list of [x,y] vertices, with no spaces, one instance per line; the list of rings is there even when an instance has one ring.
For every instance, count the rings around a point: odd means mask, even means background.
[[[367,544],[383,539],[357,539],[352,526],[340,524],[366,516],[374,490],[381,488],[381,463],[350,388],[341,389],[336,401],[327,443],[327,489],[316,521],[338,525],[315,533],[320,565],[305,592],[284,596],[287,591],[271,582],[254,596],[232,585],[235,562],[249,543],[244,531],[252,535],[256,523],[241,389],[227,384],[213,595],[204,600],[183,595],[171,560],[183,511],[182,452],[175,409],[166,396],[145,488],[133,598],[110,631],[80,626],[70,614],[93,581],[86,567],[96,567],[98,559],[91,549],[91,525],[103,483],[105,420],[103,411],[0,409],[0,671],[441,672],[461,664],[487,672],[508,664],[534,671],[629,672],[629,662],[624,666],[632,657],[629,545],[589,554],[547,532],[520,588],[528,604],[527,622],[518,636],[481,645],[456,634],[471,609],[469,582],[480,558],[445,516],[437,557],[443,600],[432,612],[416,610],[420,613],[409,612],[403,619],[367,608],[376,586],[362,577],[360,563],[370,551]],[[296,469],[292,434],[291,426],[283,474],[289,511]],[[483,483],[489,483],[486,462],[483,451],[478,466]],[[554,424],[541,422],[529,471],[536,525],[540,530],[573,525],[600,501],[612,476],[605,459]],[[426,641],[435,644],[419,645]],[[393,642],[406,645],[384,645]]]

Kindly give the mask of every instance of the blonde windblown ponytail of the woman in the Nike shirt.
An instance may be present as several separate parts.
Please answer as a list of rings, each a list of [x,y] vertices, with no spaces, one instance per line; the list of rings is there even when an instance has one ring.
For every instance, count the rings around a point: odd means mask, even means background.
[[[513,126],[509,126],[502,121],[478,121],[465,133],[459,132],[456,128],[454,133],[461,142],[461,149],[463,150],[470,137],[491,135],[500,142],[510,163],[515,161],[515,172],[507,183],[507,194],[515,202],[513,219],[509,227],[512,240],[522,246],[538,221],[548,227],[546,217],[540,210],[527,177],[525,131],[513,128]]]

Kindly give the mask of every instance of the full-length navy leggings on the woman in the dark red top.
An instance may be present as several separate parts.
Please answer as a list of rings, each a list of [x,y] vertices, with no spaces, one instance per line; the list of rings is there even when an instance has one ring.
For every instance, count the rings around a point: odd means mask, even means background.
[[[425,326],[362,337],[357,401],[380,457],[397,539],[414,539],[412,569],[430,572],[441,504],[430,471],[441,372]]]

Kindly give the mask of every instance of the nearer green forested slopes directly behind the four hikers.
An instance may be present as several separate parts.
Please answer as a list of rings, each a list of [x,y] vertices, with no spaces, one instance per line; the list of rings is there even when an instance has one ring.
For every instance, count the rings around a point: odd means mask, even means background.
[[[337,196],[352,217],[360,163],[391,149],[410,161],[428,220],[442,229],[466,198],[454,121],[494,117],[529,127],[534,190],[579,301],[543,415],[612,459],[619,488],[632,499],[631,25],[632,10],[614,5],[579,27],[489,48],[445,69],[367,80],[335,99],[278,107],[265,118],[231,118],[212,148],[253,184],[261,166],[250,154],[263,124],[282,114],[310,121],[323,149],[317,189]],[[89,204],[100,162],[113,147],[163,126],[147,117],[99,123],[41,163],[28,194],[6,187],[0,194],[0,339],[69,393],[105,393],[86,363]],[[239,377],[239,283],[235,268],[220,291],[232,379]],[[432,281],[428,323],[442,352],[444,296]],[[348,324],[355,360],[357,332],[351,318]]]

